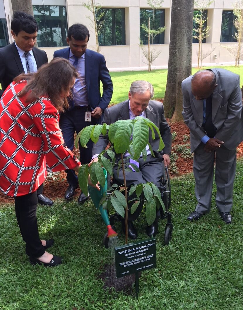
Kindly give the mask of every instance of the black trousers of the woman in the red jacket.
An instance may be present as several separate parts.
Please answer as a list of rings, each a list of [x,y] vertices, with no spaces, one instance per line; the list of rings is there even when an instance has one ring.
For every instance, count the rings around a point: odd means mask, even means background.
[[[40,257],[45,253],[40,241],[36,210],[38,204],[37,191],[14,197],[15,214],[24,242],[25,251],[30,257]]]

